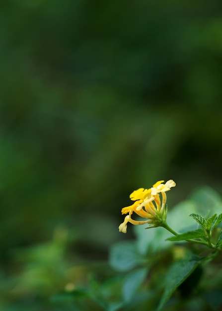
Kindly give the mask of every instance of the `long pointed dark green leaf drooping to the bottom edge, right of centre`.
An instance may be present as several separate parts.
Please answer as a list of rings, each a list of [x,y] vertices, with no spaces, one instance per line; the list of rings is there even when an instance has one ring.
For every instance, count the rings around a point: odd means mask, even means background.
[[[177,287],[197,268],[201,258],[193,257],[176,261],[168,270],[165,278],[165,289],[157,311],[160,311]]]

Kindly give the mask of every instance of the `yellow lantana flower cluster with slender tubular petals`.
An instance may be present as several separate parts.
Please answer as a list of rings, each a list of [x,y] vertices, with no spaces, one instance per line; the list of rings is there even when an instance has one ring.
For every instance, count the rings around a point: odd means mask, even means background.
[[[166,220],[166,191],[175,187],[176,183],[170,179],[165,184],[164,180],[157,181],[151,188],[140,188],[131,193],[130,199],[135,201],[134,204],[124,207],[122,214],[128,214],[125,220],[119,226],[119,231],[127,232],[127,223],[133,225],[151,225],[149,228],[161,226],[161,223]],[[160,198],[161,193],[162,198]],[[133,212],[137,215],[146,218],[146,221],[136,221],[131,218]]]

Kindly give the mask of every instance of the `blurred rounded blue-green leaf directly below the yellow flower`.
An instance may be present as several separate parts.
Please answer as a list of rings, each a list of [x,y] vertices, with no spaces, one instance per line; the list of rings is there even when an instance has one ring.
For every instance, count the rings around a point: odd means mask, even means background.
[[[121,241],[111,246],[109,263],[118,271],[128,271],[145,261],[134,241]]]

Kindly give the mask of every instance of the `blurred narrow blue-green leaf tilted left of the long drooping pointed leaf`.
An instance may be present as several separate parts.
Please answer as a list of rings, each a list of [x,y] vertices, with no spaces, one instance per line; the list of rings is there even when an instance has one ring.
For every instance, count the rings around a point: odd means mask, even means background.
[[[142,268],[127,275],[123,284],[123,297],[125,302],[129,303],[134,298],[134,294],[145,280],[147,273],[148,269]]]

